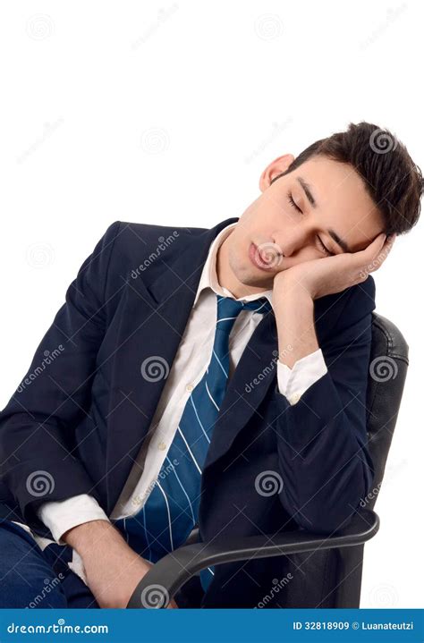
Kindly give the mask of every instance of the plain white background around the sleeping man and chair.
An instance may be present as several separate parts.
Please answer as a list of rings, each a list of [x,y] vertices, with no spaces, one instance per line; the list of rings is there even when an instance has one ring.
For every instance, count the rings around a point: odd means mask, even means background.
[[[366,120],[424,171],[422,4],[4,2],[0,407],[117,219],[241,216],[275,157]],[[422,224],[374,273],[411,365],[361,607],[422,607]]]

